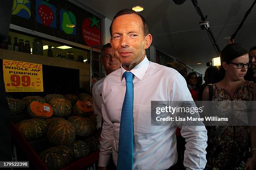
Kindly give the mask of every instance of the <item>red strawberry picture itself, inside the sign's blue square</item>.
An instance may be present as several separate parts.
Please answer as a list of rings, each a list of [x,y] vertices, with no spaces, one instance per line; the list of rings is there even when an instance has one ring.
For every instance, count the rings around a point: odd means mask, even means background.
[[[49,7],[49,4],[47,3],[48,1],[49,0],[46,0],[45,4],[40,5],[37,9],[39,17],[41,18],[45,26],[49,26],[54,20],[54,13]]]

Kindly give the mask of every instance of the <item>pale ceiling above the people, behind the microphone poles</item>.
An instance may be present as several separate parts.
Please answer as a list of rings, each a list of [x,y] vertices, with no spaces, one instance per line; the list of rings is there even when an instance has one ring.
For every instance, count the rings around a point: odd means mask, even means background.
[[[77,0],[97,13],[112,20],[123,8],[141,5],[153,45],[169,53],[187,65],[204,73],[206,62],[216,56],[205,30],[200,30],[200,17],[191,0],[175,5],[172,0]],[[197,0],[204,15],[208,15],[210,27],[220,49],[227,45],[223,37],[232,35],[254,0]],[[247,49],[256,45],[256,5],[246,19],[235,41]],[[197,65],[201,62],[202,65]]]

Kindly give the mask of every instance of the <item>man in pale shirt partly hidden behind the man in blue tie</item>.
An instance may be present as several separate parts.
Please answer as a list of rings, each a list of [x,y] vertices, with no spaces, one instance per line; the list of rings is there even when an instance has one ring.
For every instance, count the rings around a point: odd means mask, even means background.
[[[105,44],[101,48],[100,62],[104,66],[106,75],[109,75],[111,72],[120,68],[120,61],[116,59],[115,53],[110,43]],[[101,91],[102,91],[102,83],[104,79],[105,77],[97,81],[95,85],[93,85],[92,87],[93,108],[94,108],[94,113],[97,115],[96,117],[97,130],[99,134],[101,133],[101,122],[102,122]]]

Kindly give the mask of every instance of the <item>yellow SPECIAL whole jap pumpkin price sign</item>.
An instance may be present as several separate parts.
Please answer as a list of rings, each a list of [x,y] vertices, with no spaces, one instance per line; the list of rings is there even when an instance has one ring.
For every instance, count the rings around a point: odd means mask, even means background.
[[[6,92],[43,92],[41,64],[3,60],[3,77]]]

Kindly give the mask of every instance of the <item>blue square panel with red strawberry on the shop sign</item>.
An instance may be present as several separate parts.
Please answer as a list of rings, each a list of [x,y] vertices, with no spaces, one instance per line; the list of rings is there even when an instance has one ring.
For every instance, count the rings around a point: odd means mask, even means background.
[[[56,28],[56,8],[48,1],[36,0],[36,21],[47,27]]]

